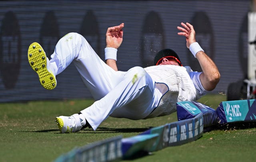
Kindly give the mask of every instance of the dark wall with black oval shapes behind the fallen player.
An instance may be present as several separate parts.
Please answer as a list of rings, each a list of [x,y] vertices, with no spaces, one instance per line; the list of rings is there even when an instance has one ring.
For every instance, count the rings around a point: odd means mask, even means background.
[[[247,73],[249,9],[249,0],[1,1],[0,102],[90,98],[72,64],[57,76],[56,89],[43,89],[27,62],[28,46],[36,41],[50,57],[62,36],[78,32],[104,59],[106,29],[121,22],[119,70],[152,65],[158,50],[172,48],[183,65],[201,71],[184,37],[177,35],[180,22],[190,22],[222,76],[213,93],[226,93],[230,82]]]

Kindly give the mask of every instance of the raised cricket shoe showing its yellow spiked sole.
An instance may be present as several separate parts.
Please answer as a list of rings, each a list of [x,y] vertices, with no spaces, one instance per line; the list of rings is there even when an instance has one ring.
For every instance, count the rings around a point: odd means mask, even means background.
[[[31,43],[28,47],[28,62],[38,74],[40,83],[45,89],[54,89],[56,87],[56,77],[52,73],[49,59],[39,43]]]

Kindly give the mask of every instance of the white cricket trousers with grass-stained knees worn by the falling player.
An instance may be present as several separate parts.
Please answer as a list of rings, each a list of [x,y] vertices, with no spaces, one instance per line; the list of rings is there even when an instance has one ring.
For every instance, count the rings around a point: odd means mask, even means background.
[[[72,61],[96,100],[80,111],[94,130],[108,116],[144,119],[157,107],[160,98],[156,95],[154,81],[142,67],[114,71],[77,33],[69,33],[58,41],[50,66],[58,75]]]

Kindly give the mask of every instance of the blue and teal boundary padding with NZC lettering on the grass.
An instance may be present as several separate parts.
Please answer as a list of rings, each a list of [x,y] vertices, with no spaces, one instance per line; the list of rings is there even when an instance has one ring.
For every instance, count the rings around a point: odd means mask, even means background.
[[[150,128],[137,136],[117,136],[74,148],[55,162],[120,161],[139,152],[154,152],[195,141],[208,126],[256,121],[255,99],[224,101],[216,110],[196,101],[182,101],[176,106],[177,122]]]

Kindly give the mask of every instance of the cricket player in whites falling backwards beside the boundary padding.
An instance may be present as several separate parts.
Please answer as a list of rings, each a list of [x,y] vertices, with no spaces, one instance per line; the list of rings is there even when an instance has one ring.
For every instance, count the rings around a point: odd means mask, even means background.
[[[56,117],[60,132],[77,132],[86,127],[96,130],[109,116],[139,120],[169,115],[176,111],[176,102],[194,101],[212,91],[220,80],[218,68],[196,42],[193,26],[189,23],[181,26],[177,27],[178,35],[186,38],[186,47],[198,59],[202,72],[183,66],[172,49],[159,51],[154,66],[118,71],[117,49],[123,40],[124,23],[107,29],[106,63],[77,33],[61,38],[50,60],[38,43],[32,43],[28,61],[44,88],[54,89],[56,75],[73,61],[95,99],[90,107],[77,114]]]

